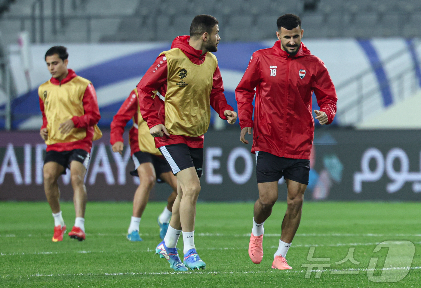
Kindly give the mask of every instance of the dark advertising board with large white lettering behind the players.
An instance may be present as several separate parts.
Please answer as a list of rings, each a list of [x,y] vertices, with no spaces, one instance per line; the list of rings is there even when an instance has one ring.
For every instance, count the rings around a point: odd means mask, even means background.
[[[206,133],[200,201],[257,199],[255,155],[239,138],[235,128]],[[0,132],[0,200],[45,200],[44,156],[37,131]],[[310,162],[306,200],[421,200],[421,131],[317,129]],[[113,153],[104,131],[91,151],[88,199],[132,200],[139,178],[131,170],[130,150]],[[59,179],[64,200],[72,200],[69,176]],[[283,179],[279,192],[285,200]],[[170,193],[167,184],[156,184],[150,197],[165,200]]]

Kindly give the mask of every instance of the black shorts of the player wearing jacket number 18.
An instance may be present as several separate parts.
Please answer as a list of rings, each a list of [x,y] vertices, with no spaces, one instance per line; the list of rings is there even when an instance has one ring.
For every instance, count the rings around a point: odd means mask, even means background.
[[[309,184],[310,160],[278,157],[256,151],[257,183],[274,182],[284,176],[301,184]]]

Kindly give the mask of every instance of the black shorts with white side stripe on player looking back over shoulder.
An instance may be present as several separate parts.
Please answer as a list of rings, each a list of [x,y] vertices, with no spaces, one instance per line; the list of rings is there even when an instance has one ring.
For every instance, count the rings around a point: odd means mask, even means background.
[[[197,176],[202,176],[203,148],[191,148],[187,144],[172,144],[158,148],[170,164],[174,175],[181,170],[195,167]]]

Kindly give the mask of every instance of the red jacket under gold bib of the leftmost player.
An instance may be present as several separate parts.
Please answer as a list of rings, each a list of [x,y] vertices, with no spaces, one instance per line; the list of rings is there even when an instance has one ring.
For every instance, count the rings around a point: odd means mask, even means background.
[[[61,85],[69,82],[77,76],[75,71],[72,69],[68,69],[68,72],[69,74],[67,74],[66,78],[63,80],[59,81],[56,78],[51,77],[50,82],[54,85]],[[38,99],[40,99],[40,109],[43,114],[43,125],[41,126],[41,129],[44,129],[47,128],[47,117],[45,117],[44,113],[44,101],[40,97],[38,97]],[[78,141],[47,145],[47,151],[53,150],[63,152],[71,151],[73,149],[83,149],[86,152],[91,153],[94,125],[96,125],[99,119],[101,119],[98,101],[96,100],[95,88],[93,88],[92,84],[89,84],[88,87],[86,87],[82,103],[85,114],[82,116],[73,116],[72,121],[75,124],[75,128],[86,128],[86,137]]]

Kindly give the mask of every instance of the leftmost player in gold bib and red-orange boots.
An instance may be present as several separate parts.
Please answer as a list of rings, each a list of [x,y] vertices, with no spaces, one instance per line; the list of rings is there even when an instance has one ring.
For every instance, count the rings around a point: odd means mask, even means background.
[[[67,69],[67,48],[54,46],[45,53],[45,62],[52,77],[40,85],[38,95],[43,115],[40,135],[47,144],[44,160],[44,189],[53,211],[53,242],[63,240],[66,225],[60,210],[61,174],[70,169],[75,203],[75,226],[71,238],[85,240],[85,208],[87,193],[84,183],[92,141],[101,138],[96,125],[101,118],[95,89],[89,80]]]

